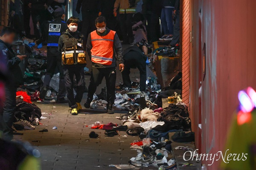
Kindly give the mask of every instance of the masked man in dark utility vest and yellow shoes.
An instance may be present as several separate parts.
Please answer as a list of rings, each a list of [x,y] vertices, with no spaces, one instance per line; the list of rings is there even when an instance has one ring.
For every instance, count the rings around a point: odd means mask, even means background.
[[[64,80],[67,89],[67,99],[72,109],[71,113],[77,115],[82,109],[80,102],[85,91],[84,67],[86,66],[84,54],[84,36],[77,31],[79,20],[70,17],[67,20],[67,31],[63,32],[58,42],[58,50],[62,53]],[[74,76],[76,77],[76,96],[74,96]]]

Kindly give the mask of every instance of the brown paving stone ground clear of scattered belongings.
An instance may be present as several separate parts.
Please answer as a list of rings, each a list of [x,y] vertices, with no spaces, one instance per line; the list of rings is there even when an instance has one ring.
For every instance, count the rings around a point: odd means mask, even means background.
[[[122,82],[122,77],[119,71],[117,72],[116,84],[119,84]],[[139,78],[137,70],[132,71],[131,78]],[[90,76],[85,76],[87,87],[89,79]],[[98,94],[104,86],[105,80],[97,89]],[[82,105],[86,98],[87,93],[84,94]],[[15,139],[30,142],[41,152],[42,170],[113,170],[116,168],[109,167],[109,164],[128,164],[129,159],[137,155],[137,151],[131,150],[129,144],[138,137],[128,136],[125,132],[120,132],[119,136],[106,137],[105,130],[94,130],[99,134],[99,138],[89,138],[92,129],[86,125],[96,121],[103,124],[109,122],[120,124],[122,122],[115,117],[120,116],[121,113],[113,115],[80,113],[74,116],[70,114],[67,104],[36,103],[36,105],[42,112],[47,113],[42,115],[47,119],[42,119],[43,125],[36,126],[35,130],[21,131],[23,136],[15,136]],[[58,129],[52,129],[54,126]],[[49,131],[39,132],[44,128]]]

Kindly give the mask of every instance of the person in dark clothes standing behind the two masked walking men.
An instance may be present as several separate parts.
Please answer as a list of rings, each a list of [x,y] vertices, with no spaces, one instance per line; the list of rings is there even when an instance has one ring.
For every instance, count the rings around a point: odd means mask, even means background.
[[[84,40],[87,40],[88,34],[91,31],[96,30],[94,20],[99,15],[101,0],[78,0],[76,3],[76,12],[80,14],[82,12],[82,30],[84,34]]]

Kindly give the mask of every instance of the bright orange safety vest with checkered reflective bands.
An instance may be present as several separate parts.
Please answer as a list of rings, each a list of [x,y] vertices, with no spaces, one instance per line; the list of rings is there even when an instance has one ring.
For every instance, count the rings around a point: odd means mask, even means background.
[[[90,33],[93,48],[91,60],[94,63],[111,65],[113,61],[113,42],[116,32],[110,30],[105,36],[100,36],[96,31]]]

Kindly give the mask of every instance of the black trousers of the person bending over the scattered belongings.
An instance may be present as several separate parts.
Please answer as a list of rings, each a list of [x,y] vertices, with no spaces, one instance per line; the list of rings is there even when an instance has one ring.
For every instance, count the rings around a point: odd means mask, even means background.
[[[130,69],[138,68],[140,71],[140,91],[145,91],[147,80],[145,59],[137,51],[130,51],[123,58],[125,60],[125,69],[122,71],[124,87],[131,88]]]

